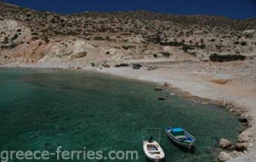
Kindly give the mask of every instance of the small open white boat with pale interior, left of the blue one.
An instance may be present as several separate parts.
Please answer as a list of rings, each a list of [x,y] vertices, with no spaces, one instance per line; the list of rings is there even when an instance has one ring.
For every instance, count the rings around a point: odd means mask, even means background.
[[[165,157],[163,148],[152,139],[143,142],[144,152],[148,159],[153,161],[161,161]]]

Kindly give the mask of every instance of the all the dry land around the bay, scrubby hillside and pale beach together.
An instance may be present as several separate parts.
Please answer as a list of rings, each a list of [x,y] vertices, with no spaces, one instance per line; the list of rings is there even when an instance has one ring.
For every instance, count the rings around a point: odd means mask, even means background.
[[[220,140],[218,159],[256,160],[255,18],[147,11],[62,15],[0,2],[0,33],[0,66],[93,69],[218,101],[246,128],[236,142]],[[245,59],[218,63],[211,55]]]

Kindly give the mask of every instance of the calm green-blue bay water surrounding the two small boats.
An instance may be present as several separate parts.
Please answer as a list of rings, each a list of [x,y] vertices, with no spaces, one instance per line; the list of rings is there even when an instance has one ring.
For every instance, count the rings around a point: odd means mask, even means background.
[[[86,146],[94,151],[135,150],[137,161],[147,161],[141,129],[152,127],[161,129],[166,161],[198,156],[207,157],[188,161],[211,161],[217,154],[211,150],[221,138],[237,138],[241,127],[227,111],[154,92],[154,87],[99,73],[0,68],[0,150],[54,152],[58,145],[64,150]],[[158,101],[158,95],[168,96],[167,101]],[[166,126],[191,132],[197,152],[187,154],[172,145]]]

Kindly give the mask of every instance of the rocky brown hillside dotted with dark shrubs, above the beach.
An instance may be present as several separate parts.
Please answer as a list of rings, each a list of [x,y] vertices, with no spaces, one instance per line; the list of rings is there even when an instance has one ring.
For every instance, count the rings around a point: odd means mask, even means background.
[[[148,11],[55,14],[0,2],[0,64],[87,66],[256,53],[256,18]]]

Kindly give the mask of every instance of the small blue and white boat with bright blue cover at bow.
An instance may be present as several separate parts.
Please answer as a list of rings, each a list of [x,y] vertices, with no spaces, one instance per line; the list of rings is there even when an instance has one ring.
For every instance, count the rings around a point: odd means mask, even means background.
[[[195,138],[189,134],[185,129],[167,127],[166,134],[169,136],[169,139],[172,140],[176,145],[179,145],[183,148],[194,149]]]

